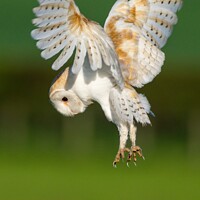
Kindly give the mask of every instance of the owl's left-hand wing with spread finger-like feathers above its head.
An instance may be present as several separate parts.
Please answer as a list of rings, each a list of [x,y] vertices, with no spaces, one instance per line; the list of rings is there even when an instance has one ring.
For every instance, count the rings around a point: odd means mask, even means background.
[[[38,1],[39,7],[33,9],[37,17],[33,24],[38,28],[31,35],[39,40],[37,47],[43,50],[43,58],[49,59],[61,52],[53,69],[62,67],[76,48],[73,73],[79,72],[88,55],[92,70],[100,69],[104,62],[111,67],[116,80],[123,82],[113,43],[99,24],[84,17],[73,0]]]

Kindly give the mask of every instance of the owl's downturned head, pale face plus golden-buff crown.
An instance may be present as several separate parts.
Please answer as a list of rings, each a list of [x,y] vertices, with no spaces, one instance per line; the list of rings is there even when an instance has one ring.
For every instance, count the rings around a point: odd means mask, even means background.
[[[55,109],[65,116],[74,116],[85,111],[86,106],[75,94],[67,89],[69,69],[59,74],[49,90],[49,98]]]

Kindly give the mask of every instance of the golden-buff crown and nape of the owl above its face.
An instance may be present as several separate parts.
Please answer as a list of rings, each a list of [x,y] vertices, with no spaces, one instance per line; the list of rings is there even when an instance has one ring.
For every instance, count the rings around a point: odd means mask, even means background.
[[[60,74],[56,76],[49,89],[49,97],[51,97],[55,91],[65,88],[68,79],[68,74],[69,74],[69,67],[67,67],[64,71],[62,71]]]

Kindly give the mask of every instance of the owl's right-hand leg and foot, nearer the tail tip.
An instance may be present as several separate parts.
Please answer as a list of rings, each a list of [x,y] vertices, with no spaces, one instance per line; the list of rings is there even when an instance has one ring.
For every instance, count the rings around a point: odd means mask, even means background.
[[[133,124],[130,124],[129,135],[130,135],[132,146],[128,155],[127,165],[128,165],[128,162],[130,162],[132,158],[133,158],[134,164],[136,165],[137,154],[139,155],[139,157],[142,157],[144,159],[144,156],[142,154],[142,149],[139,146],[136,146],[136,131],[137,131],[137,128]]]

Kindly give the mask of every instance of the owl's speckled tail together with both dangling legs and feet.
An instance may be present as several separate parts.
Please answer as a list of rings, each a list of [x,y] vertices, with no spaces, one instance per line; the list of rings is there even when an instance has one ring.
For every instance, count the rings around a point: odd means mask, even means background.
[[[124,158],[125,151],[129,152],[127,162],[133,158],[134,163],[136,163],[136,155],[138,154],[140,157],[143,157],[143,155],[141,148],[135,144],[136,127],[133,125],[133,120],[143,125],[151,123],[148,117],[148,113],[150,113],[149,102],[145,96],[138,94],[133,88],[124,88],[122,91],[118,88],[113,88],[110,93],[110,100],[118,120],[123,121],[123,125],[118,127],[120,132],[120,148],[113,165],[116,166],[120,158]],[[125,148],[128,132],[132,142],[130,150]]]

